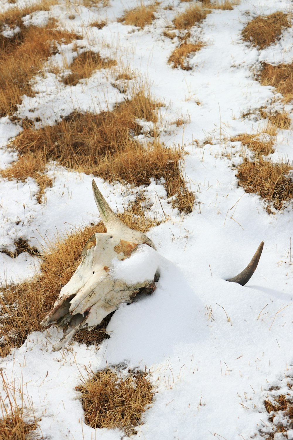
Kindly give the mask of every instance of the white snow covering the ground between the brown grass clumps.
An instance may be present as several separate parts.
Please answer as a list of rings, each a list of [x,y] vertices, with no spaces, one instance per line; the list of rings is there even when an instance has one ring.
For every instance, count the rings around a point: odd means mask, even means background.
[[[79,47],[100,51],[101,56],[134,71],[134,84],[147,81],[151,94],[166,105],[160,109],[160,139],[166,145],[179,143],[188,153],[184,171],[196,205],[191,214],[180,215],[167,202],[163,185],[152,182],[145,188],[151,214],[158,219],[164,213],[169,217],[148,232],[160,254],[161,277],[152,296],[115,312],[108,325],[111,337],[98,351],[74,343],[62,352],[52,352],[57,330],[49,329],[30,334],[0,366],[7,378],[23,379],[36,416],[42,417],[44,438],[118,440],[123,436],[119,429],[87,426],[75,389],[86,369],[96,371],[106,363],[126,363],[142,370],[146,366],[152,372],[157,393],[143,416],[144,424],[137,428],[137,439],[261,438],[260,431],[266,432],[269,426],[264,407],[267,391],[278,387],[282,394],[292,392],[286,378],[293,372],[292,203],[272,215],[257,195],[246,194],[235,177],[235,166],[242,161],[240,143],[231,144],[228,139],[265,128],[268,121],[242,114],[270,108],[273,97],[272,106],[283,109],[282,97],[274,88],[260,85],[254,72],[260,62],[291,62],[292,28],[262,51],[243,42],[241,30],[257,15],[292,11],[292,2],[241,0],[232,11],[212,11],[200,26],[190,29],[191,39],[200,39],[205,46],[190,59],[189,71],[167,63],[178,40],[163,36],[188,3],[161,1],[156,19],[141,30],[117,22],[126,7],[137,6],[136,0],[124,4],[110,0],[108,6],[92,8],[59,3],[26,21],[40,25],[49,16],[58,18],[61,28],[83,36],[77,41]],[[169,4],[172,10],[165,8]],[[2,6],[14,5],[3,1]],[[72,14],[74,19],[69,18]],[[90,26],[103,19],[107,25],[102,29]],[[72,45],[64,45],[61,52],[50,62],[61,65],[64,58],[70,62]],[[53,73],[36,77],[36,95],[25,96],[17,114],[38,117],[36,125],[43,126],[72,110],[111,108],[124,97],[112,86],[114,81],[111,70],[96,71],[76,86],[65,86]],[[285,106],[289,113],[292,108]],[[186,124],[172,124],[178,117]],[[17,157],[6,146],[20,130],[8,117],[0,119],[2,168]],[[293,161],[291,130],[279,131],[271,158]],[[38,187],[32,178],[25,183],[0,180],[2,249],[13,250],[21,237],[40,248],[44,239],[54,239],[56,231],[98,220],[92,176],[54,164],[48,174],[54,182],[43,204],[36,202]],[[114,210],[123,211],[134,197],[127,186],[95,180]],[[226,282],[246,266],[262,240],[264,251],[248,284]],[[37,269],[34,257],[22,253],[11,259],[0,253],[3,279],[16,281]],[[292,439],[293,430],[287,437],[275,435],[276,440],[282,438]]]

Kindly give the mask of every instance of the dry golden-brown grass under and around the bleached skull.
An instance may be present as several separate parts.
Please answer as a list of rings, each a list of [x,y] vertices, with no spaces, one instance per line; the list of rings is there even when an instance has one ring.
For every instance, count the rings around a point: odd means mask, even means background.
[[[147,232],[158,224],[141,208],[143,197],[133,203],[129,211],[119,214],[128,227]],[[20,347],[32,331],[42,331],[40,322],[50,312],[61,288],[69,281],[80,263],[81,250],[95,232],[105,232],[102,223],[70,232],[66,237],[57,235],[55,243],[47,243],[40,265],[41,275],[17,285],[2,286],[0,295],[0,357],[7,356],[13,347]],[[32,248],[31,248],[32,249]],[[22,248],[32,254],[29,248]],[[99,344],[105,338],[107,317],[98,327],[81,330],[74,339],[86,344]]]

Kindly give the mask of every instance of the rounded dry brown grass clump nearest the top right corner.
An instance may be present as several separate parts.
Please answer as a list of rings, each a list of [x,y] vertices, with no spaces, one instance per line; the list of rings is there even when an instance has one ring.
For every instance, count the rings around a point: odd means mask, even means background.
[[[291,26],[290,21],[289,16],[280,11],[253,18],[242,30],[243,40],[260,49],[266,48],[280,37],[284,27]]]

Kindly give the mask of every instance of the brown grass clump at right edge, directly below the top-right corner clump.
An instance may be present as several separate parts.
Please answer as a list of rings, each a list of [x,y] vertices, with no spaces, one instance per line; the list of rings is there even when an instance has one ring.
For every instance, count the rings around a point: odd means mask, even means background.
[[[275,87],[286,103],[293,99],[293,63],[271,66],[264,62],[259,79],[260,84]]]

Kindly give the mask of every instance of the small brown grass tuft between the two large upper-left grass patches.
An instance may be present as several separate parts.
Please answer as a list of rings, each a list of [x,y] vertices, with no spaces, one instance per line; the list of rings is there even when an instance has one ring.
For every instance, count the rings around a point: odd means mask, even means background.
[[[109,69],[116,64],[115,60],[101,58],[99,53],[82,52],[70,64],[71,73],[63,79],[63,82],[66,85],[76,85],[81,79],[89,78],[95,70]]]

